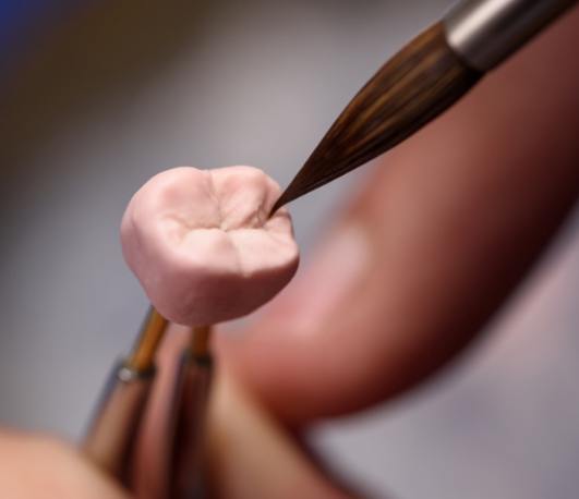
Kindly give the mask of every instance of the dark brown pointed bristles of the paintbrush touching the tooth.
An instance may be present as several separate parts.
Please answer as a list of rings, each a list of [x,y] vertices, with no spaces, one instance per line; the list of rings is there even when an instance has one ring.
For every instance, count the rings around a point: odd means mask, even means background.
[[[444,26],[431,26],[386,62],[350,101],[272,212],[390,149],[453,105],[480,77],[448,47]]]

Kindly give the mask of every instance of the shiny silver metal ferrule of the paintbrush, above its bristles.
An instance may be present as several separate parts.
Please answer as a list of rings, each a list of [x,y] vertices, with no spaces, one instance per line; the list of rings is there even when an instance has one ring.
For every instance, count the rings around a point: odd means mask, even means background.
[[[443,23],[448,45],[472,69],[487,72],[576,0],[466,0]]]

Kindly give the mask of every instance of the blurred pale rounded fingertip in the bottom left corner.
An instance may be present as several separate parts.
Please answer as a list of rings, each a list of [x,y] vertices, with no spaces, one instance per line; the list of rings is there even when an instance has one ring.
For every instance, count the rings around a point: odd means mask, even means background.
[[[0,497],[128,499],[72,446],[5,430],[0,433]]]

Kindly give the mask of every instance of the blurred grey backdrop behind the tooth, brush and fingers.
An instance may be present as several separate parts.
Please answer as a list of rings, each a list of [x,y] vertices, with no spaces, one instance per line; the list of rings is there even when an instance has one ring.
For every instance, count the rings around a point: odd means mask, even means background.
[[[0,423],[82,434],[146,309],[118,236],[145,180],[245,163],[287,184],[449,3],[1,3]],[[370,168],[292,206],[305,260]],[[577,497],[578,247],[575,216],[478,349],[411,397],[319,425],[313,445],[377,497]]]

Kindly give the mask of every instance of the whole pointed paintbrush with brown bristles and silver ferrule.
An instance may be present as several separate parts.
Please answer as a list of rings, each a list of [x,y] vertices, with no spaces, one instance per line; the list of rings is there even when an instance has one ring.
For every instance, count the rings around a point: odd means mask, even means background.
[[[467,0],[386,62],[355,95],[272,209],[412,135],[576,0]]]

